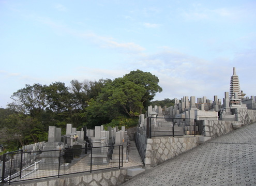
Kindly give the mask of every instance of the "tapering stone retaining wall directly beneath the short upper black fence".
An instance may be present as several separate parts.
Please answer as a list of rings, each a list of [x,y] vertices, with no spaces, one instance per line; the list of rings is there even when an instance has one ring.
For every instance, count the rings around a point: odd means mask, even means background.
[[[198,145],[199,137],[152,137],[137,132],[136,145],[145,167],[155,167]]]

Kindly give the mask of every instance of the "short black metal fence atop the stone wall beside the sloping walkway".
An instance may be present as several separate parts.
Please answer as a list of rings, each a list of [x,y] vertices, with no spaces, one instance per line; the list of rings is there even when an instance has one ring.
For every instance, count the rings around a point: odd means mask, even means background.
[[[147,136],[181,136],[198,134],[197,120],[186,118],[147,118]]]

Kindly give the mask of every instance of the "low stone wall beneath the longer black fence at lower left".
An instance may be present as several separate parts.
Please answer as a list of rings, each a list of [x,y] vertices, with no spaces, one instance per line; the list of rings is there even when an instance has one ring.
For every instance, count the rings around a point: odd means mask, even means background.
[[[65,175],[59,178],[44,178],[12,183],[16,186],[108,186],[125,182],[127,169],[99,170],[94,173]]]

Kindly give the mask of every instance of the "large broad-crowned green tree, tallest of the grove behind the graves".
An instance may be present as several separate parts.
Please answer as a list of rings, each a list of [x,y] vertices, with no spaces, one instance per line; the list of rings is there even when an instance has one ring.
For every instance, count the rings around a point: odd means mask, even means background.
[[[141,70],[107,82],[86,108],[88,122],[102,125],[119,116],[138,117],[156,92],[162,91],[155,75]]]

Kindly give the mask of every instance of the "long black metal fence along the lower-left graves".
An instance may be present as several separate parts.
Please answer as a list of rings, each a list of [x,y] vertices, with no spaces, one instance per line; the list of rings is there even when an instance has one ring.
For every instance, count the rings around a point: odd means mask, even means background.
[[[1,183],[11,183],[123,166],[123,146],[66,148],[4,154]]]

